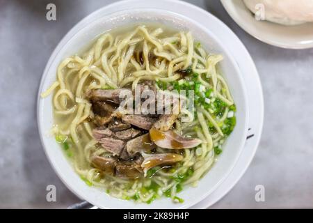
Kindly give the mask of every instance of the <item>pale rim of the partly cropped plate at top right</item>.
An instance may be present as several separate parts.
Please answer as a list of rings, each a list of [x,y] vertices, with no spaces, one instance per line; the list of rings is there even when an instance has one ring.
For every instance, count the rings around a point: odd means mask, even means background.
[[[310,43],[287,43],[286,41],[281,41],[281,40],[275,40],[273,38],[268,38],[268,36],[266,36],[267,32],[262,34],[260,32],[254,31],[253,29],[250,29],[249,26],[247,25],[248,22],[244,23],[240,19],[241,16],[236,16],[236,14],[232,10],[232,8],[236,8],[237,7],[236,3],[233,0],[230,0],[230,1],[229,0],[221,0],[220,2],[222,3],[222,5],[225,8],[225,10],[228,13],[228,15],[230,15],[230,17],[232,17],[232,20],[234,20],[234,22],[236,22],[236,24],[238,24],[241,27],[241,29],[243,29],[244,31],[249,33],[251,36],[253,36],[257,40],[262,41],[263,43],[267,43],[268,45],[273,45],[275,47],[281,47],[281,48],[284,48],[284,49],[309,49],[309,48],[313,47],[313,38],[310,41]],[[246,8],[246,10],[249,10],[249,9]],[[268,22],[271,25],[284,26],[284,25],[281,25],[281,24],[275,24],[274,22],[270,22],[270,21],[264,21],[264,22]],[[313,24],[313,22],[312,22],[312,24]],[[288,27],[289,26],[286,26],[286,29]]]

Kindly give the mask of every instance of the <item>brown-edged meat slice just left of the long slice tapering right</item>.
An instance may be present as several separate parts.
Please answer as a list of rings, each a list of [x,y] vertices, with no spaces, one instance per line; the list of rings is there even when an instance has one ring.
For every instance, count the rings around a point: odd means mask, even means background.
[[[130,157],[134,157],[136,153],[141,151],[151,151],[157,146],[151,141],[149,133],[143,134],[140,137],[127,141],[126,149]]]

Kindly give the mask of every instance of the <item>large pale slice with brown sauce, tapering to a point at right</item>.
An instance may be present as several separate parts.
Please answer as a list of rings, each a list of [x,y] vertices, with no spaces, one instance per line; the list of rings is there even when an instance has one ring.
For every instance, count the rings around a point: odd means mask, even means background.
[[[200,139],[193,139],[188,137],[183,137],[172,130],[163,132],[152,128],[150,130],[150,139],[161,148],[193,148],[202,143]]]

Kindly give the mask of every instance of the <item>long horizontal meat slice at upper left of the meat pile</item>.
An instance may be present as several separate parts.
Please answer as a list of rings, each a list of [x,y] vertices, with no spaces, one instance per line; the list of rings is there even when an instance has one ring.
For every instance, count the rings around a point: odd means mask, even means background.
[[[86,96],[90,100],[111,102],[114,104],[120,104],[120,95],[123,94],[122,91],[129,92],[129,89],[96,89],[90,90],[86,93]],[[122,100],[122,98],[121,98]]]

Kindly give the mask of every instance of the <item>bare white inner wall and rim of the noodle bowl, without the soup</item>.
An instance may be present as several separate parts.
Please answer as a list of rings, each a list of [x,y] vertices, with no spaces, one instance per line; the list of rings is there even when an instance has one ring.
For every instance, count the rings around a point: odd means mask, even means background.
[[[152,8],[124,10],[98,17],[97,20],[86,23],[83,28],[74,26],[69,32],[71,35],[68,33],[61,40],[61,43],[56,47],[47,63],[40,83],[39,93],[47,89],[55,81],[58,64],[65,57],[76,54],[80,49],[86,47],[95,36],[104,31],[136,22],[159,22],[172,26],[175,29],[189,30],[209,52],[223,54],[224,60],[220,63],[220,69],[223,71],[223,75],[230,86],[230,91],[236,102],[237,123],[234,132],[232,132],[225,143],[224,152],[218,157],[218,162],[200,180],[198,187],[186,187],[179,193],[179,197],[184,199],[184,203],[172,203],[168,198],[157,199],[151,204],[115,199],[97,187],[88,187],[79,178],[70,163],[67,162],[54,137],[47,136],[47,132],[49,132],[54,123],[51,95],[48,98],[41,99],[38,94],[38,127],[42,145],[45,148],[45,153],[49,162],[51,162],[51,166],[63,180],[63,183],[78,197],[93,203],[93,205],[99,208],[188,208],[207,197],[230,174],[241,154],[248,130],[248,105],[241,73],[230,52],[223,47],[223,44],[214,36],[214,33],[211,33],[198,22],[188,19],[188,17]]]

